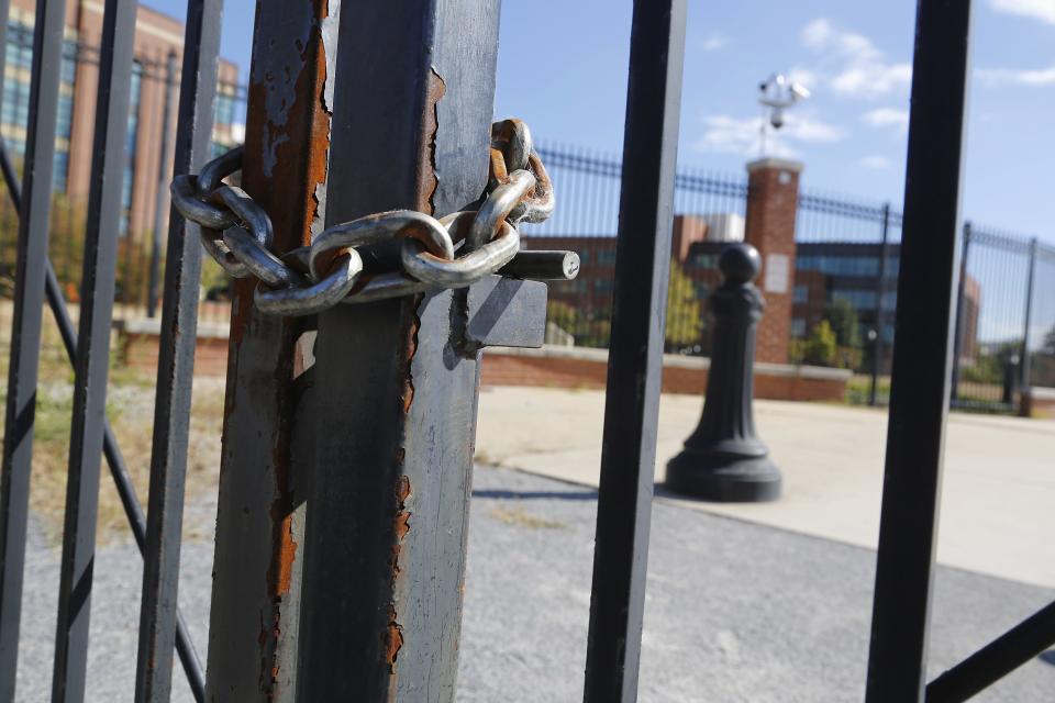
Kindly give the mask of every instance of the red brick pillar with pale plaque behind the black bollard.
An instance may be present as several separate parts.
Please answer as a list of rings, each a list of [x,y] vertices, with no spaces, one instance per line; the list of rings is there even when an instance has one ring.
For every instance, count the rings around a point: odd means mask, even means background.
[[[758,324],[757,361],[788,362],[795,292],[795,215],[802,164],[764,158],[747,165],[744,239],[762,255],[758,287],[766,312]]]

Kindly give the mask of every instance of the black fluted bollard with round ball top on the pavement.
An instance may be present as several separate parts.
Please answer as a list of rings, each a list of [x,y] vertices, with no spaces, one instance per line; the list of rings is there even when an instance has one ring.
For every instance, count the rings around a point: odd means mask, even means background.
[[[728,246],[719,259],[724,282],[708,304],[713,350],[700,424],[667,464],[666,488],[709,501],[758,503],[780,496],[780,470],[755,434],[755,328],[765,300],[752,283],[762,259],[749,244]]]

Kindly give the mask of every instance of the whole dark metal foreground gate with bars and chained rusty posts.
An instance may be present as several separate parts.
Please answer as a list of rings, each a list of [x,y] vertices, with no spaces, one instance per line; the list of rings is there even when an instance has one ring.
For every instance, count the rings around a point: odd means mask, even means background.
[[[427,281],[399,274],[410,266],[406,247],[355,255],[345,247],[359,242],[358,230],[341,223],[395,209],[467,210],[466,266],[474,242],[493,234],[478,221],[499,231],[495,242],[513,236],[502,222],[517,203],[495,204],[495,193],[517,175],[488,183],[489,154],[490,176],[501,170],[488,144],[499,1],[258,3],[245,147],[206,171],[222,3],[188,2],[175,154],[182,180],[174,192],[184,212],[201,205],[196,217],[214,226],[175,210],[170,217],[145,515],[106,419],[135,4],[104,5],[77,331],[47,258],[59,81],[59,62],[48,57],[60,51],[66,0],[36,4],[22,183],[0,149],[20,212],[0,477],[0,699],[15,693],[46,302],[76,375],[55,700],[84,698],[102,457],[145,565],[135,700],[168,699],[177,652],[199,701],[453,700],[480,353],[492,343],[541,343],[545,291],[528,279],[570,275],[574,258],[518,254],[503,276],[415,288]],[[0,12],[8,9],[0,0]],[[591,702],[636,699],[685,11],[685,0],[634,2],[586,643]],[[919,2],[896,319],[912,344],[893,358],[866,694],[877,703],[966,700],[1055,641],[1048,606],[937,680],[924,678],[962,246],[969,15],[966,0]],[[513,144],[509,130],[496,141],[530,163],[530,146]],[[220,188],[237,167],[244,191]],[[213,188],[227,210],[206,197]],[[481,200],[484,192],[493,197]],[[435,234],[431,217],[401,216],[417,223],[419,238]],[[319,245],[327,237],[336,257]],[[176,605],[203,238],[236,270],[255,274],[238,282],[232,308],[208,676]],[[353,297],[396,283],[409,294],[363,305],[326,299],[302,316],[264,312],[318,302],[308,282],[314,268],[346,267],[354,284],[356,258],[371,274]],[[427,270],[440,269],[449,274]]]

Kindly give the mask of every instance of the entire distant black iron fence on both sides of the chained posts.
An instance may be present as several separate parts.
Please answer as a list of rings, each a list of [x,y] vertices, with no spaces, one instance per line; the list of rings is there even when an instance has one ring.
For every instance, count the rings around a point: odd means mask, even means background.
[[[29,27],[8,27],[8,57],[27,64],[32,55]],[[99,47],[64,41],[60,80],[75,81],[84,66],[98,67]],[[169,111],[178,92],[178,76],[147,56],[136,56],[130,88],[130,154],[138,149],[167,153],[170,133],[147,124],[143,115]],[[157,83],[166,89],[144,90]],[[167,90],[171,87],[173,90]],[[73,92],[70,83],[60,97]],[[213,153],[232,144],[232,125],[244,113],[246,90],[221,81],[215,109]],[[24,149],[27,86],[9,80],[0,131],[18,157]],[[153,100],[158,104],[147,104]],[[162,105],[160,102],[167,101]],[[60,290],[76,303],[80,290],[86,194],[76,192],[65,175],[71,144],[73,105],[58,104],[59,142],[55,169],[62,172],[52,204],[49,255]],[[65,113],[64,113],[65,111]],[[65,116],[64,116],[65,114]],[[65,130],[65,132],[64,132]],[[65,134],[65,136],[63,136]],[[65,150],[64,150],[65,149]],[[618,157],[556,143],[540,153],[549,165],[560,193],[560,207],[542,225],[528,227],[525,245],[532,248],[575,248],[580,252],[582,275],[556,283],[549,302],[551,343],[607,348],[611,331],[615,232],[618,228],[621,164]],[[164,227],[166,196],[144,199],[136,193],[144,179],[130,158],[122,189],[122,236],[118,243],[115,304],[123,317],[156,311],[162,247],[152,228],[130,226],[132,203],[163,219],[145,217]],[[55,180],[55,179],[53,179]],[[156,179],[154,179],[156,181]],[[702,169],[680,168],[675,181],[675,231],[665,332],[667,353],[708,356],[710,316],[706,301],[718,283],[715,243],[744,236],[747,179]],[[149,200],[149,202],[147,202]],[[144,217],[135,221],[143,222]],[[16,213],[0,202],[0,319],[10,313],[2,302],[13,290]],[[156,226],[156,225],[155,225]],[[897,304],[901,214],[889,204],[869,202],[817,190],[799,197],[796,223],[796,276],[790,321],[789,361],[848,368],[855,372],[848,399],[885,403],[889,390],[893,348],[893,311]],[[1028,237],[990,227],[969,227],[964,246],[959,288],[957,354],[953,372],[953,403],[962,408],[1011,410],[1026,386],[1055,386],[1055,249]],[[1031,261],[1033,276],[1030,277]],[[154,297],[152,300],[152,291]],[[203,320],[222,322],[229,315],[230,280],[212,261],[206,261],[201,280]],[[1028,311],[1026,300],[1030,301]],[[154,302],[155,304],[152,304]],[[76,314],[76,306],[74,308]],[[1029,312],[1029,321],[1026,314]],[[1029,332],[1026,326],[1029,323]]]

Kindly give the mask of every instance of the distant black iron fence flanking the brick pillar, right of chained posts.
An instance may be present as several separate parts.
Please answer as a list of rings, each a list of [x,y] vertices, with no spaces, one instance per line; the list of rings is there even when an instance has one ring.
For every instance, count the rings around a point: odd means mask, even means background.
[[[607,348],[620,163],[553,144],[541,153],[562,202],[553,220],[525,230],[526,246],[574,248],[582,258],[577,280],[552,287],[551,342]],[[720,243],[744,236],[746,202],[746,178],[678,170],[668,353],[710,354],[706,301],[718,283]],[[852,402],[888,400],[901,222],[889,203],[818,190],[799,196],[789,361],[854,371]],[[970,224],[965,242],[952,401],[1011,411],[1023,387],[1055,386],[1055,247]]]

